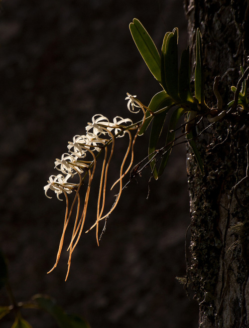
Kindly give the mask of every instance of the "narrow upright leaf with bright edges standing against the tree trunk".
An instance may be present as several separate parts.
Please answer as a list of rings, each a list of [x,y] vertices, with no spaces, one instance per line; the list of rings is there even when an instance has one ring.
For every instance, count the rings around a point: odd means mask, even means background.
[[[204,105],[204,76],[201,32],[196,32],[195,98]]]

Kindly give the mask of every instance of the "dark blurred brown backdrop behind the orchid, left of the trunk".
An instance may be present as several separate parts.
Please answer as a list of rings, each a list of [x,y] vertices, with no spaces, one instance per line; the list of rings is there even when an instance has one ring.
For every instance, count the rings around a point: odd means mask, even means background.
[[[185,274],[189,223],[184,146],[174,149],[164,175],[150,183],[148,200],[149,170],[124,190],[100,247],[94,231],[82,235],[66,283],[66,247],[58,267],[46,274],[56,259],[65,206],[65,200],[48,199],[43,191],[48,177],[59,173],[54,161],[67,152],[74,135],[85,134],[94,114],[137,120],[127,111],[126,92],[148,105],[161,89],[128,24],[140,19],[158,48],[165,32],[177,26],[184,48],[182,2],[2,0],[0,248],[8,258],[18,302],[49,294],[67,312],[84,316],[92,328],[197,327],[197,305],[175,279]],[[136,142],[134,164],[147,154],[148,135]],[[117,161],[126,147],[119,143]],[[113,165],[112,182],[120,164]],[[97,192],[98,179],[87,228],[95,221]],[[0,305],[8,303],[2,290]],[[25,310],[23,316],[34,328],[56,327],[41,311]],[[8,315],[0,327],[12,322]]]

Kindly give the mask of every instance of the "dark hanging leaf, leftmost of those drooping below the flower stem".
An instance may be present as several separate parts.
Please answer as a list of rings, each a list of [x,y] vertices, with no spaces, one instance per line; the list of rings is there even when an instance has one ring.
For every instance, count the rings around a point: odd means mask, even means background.
[[[150,132],[150,138],[149,138],[149,149],[148,149],[149,160],[155,155],[154,151],[156,149],[156,144],[158,142],[158,139],[161,135],[167,112],[168,111],[164,111],[160,113],[153,120],[151,132]],[[154,178],[157,180],[158,175],[157,175],[157,169],[155,167],[155,159],[150,162],[150,167],[153,171]]]

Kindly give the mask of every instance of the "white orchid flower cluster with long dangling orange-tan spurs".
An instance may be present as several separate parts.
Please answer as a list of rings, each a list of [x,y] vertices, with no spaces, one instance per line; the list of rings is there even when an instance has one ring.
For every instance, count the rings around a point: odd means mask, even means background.
[[[49,180],[47,181],[48,184],[44,186],[45,195],[48,198],[52,198],[47,195],[48,189],[54,191],[59,200],[62,200],[60,198],[61,194],[64,194],[66,198],[66,212],[65,212],[62,236],[59,244],[59,250],[57,253],[55,265],[48,273],[50,273],[58,264],[62,246],[63,246],[65,232],[69,220],[72,216],[73,209],[77,207],[72,238],[69,247],[67,249],[69,251],[69,259],[68,259],[68,271],[67,271],[66,280],[69,274],[72,253],[83,231],[83,227],[86,219],[89,195],[90,195],[90,188],[96,169],[97,158],[99,157],[100,153],[105,152],[104,161],[102,165],[101,178],[100,178],[100,188],[99,188],[99,196],[98,196],[98,204],[97,204],[97,218],[95,223],[86,232],[96,227],[96,239],[98,245],[99,245],[99,222],[103,219],[107,220],[111,212],[117,206],[122,193],[123,177],[129,171],[133,163],[133,147],[136,137],[145,120],[145,110],[144,110],[145,106],[142,105],[140,101],[136,99],[136,96],[131,96],[128,93],[125,100],[128,100],[127,108],[130,112],[138,113],[140,109],[142,109],[143,111],[142,123],[133,124],[130,119],[128,118],[123,119],[120,116],[115,117],[113,122],[110,122],[108,118],[106,118],[101,114],[94,115],[92,118],[92,122],[88,123],[88,126],[86,127],[86,135],[75,136],[73,138],[73,141],[68,143],[69,144],[68,153],[63,154],[61,159],[56,159],[55,168],[59,170],[61,173],[59,173],[58,175],[51,175],[49,177]],[[135,107],[139,108],[139,110],[135,111]],[[130,130],[136,130],[136,133],[133,138]],[[119,187],[120,187],[119,193],[116,195],[116,200],[112,208],[108,211],[107,214],[104,214],[107,174],[108,174],[109,164],[114,152],[115,139],[122,138],[125,135],[127,135],[129,138],[127,151],[124,155],[124,160],[120,168],[120,177],[112,186],[113,188],[117,183],[119,183]],[[111,152],[108,157],[109,145],[111,147]],[[128,164],[128,167],[123,173],[124,164],[130,152],[131,152],[130,163]],[[79,179],[78,183],[70,182],[70,179],[72,180],[74,176],[78,176]],[[85,199],[82,205],[83,209],[81,211],[80,210],[81,197],[79,191],[81,186],[85,183],[85,180],[88,180],[88,182],[87,182],[87,188],[85,193]],[[72,200],[71,206],[69,206],[69,199],[67,195],[71,193],[74,193],[74,198]]]

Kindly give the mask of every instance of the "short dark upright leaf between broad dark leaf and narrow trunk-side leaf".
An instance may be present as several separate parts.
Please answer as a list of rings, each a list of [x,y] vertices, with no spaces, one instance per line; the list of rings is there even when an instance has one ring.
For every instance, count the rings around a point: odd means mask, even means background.
[[[178,77],[179,96],[184,103],[194,103],[195,100],[190,91],[190,63],[189,47],[183,50]]]

